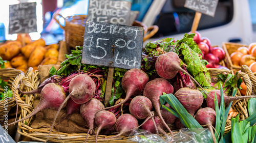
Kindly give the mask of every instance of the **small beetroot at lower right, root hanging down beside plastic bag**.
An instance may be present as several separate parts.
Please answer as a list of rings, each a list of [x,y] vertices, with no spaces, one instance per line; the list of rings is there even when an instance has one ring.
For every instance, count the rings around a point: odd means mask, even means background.
[[[201,108],[197,111],[195,119],[200,125],[207,125],[208,129],[210,130],[212,139],[216,143],[217,141],[215,138],[214,130],[212,129],[216,122],[216,111],[210,107]]]

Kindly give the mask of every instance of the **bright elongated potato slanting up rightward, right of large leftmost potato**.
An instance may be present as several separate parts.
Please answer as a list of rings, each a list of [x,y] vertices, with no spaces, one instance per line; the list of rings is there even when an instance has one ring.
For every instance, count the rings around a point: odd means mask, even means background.
[[[46,42],[44,39],[38,39],[24,47],[22,47],[22,53],[24,54],[24,56],[29,59],[30,54],[33,52],[33,50],[37,47],[37,46],[46,46]]]

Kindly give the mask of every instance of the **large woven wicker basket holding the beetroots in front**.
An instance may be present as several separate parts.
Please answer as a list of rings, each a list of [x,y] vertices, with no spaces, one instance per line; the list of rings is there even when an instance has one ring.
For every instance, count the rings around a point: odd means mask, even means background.
[[[37,76],[38,71],[35,71],[35,72],[31,72],[31,71],[32,70],[30,70],[26,76],[24,74],[18,75],[13,82],[13,89],[16,89],[18,87],[18,84],[21,83],[20,81],[22,81],[25,84],[24,89],[26,89],[26,91],[30,91],[30,90],[33,90],[36,87],[38,87],[38,85],[39,85],[39,78]],[[224,70],[224,69],[209,69],[209,72],[210,72],[212,81],[216,81],[217,80],[216,77],[220,73],[231,73],[231,74],[233,73],[232,70]],[[248,79],[248,84],[250,84],[251,83],[250,79],[249,78],[246,78],[246,79]],[[18,100],[20,100],[19,99],[20,95],[18,94],[17,91],[15,92],[15,96]],[[38,96],[38,95],[37,94],[26,95],[26,100],[18,103],[18,105],[22,108],[22,113],[21,113],[19,119],[26,117],[33,110],[32,105],[33,105],[33,102],[34,102],[34,99],[36,98],[36,96]],[[239,95],[237,95],[237,96],[239,96]],[[242,100],[241,100],[241,102],[242,102],[242,107],[240,105],[238,105],[240,103],[240,101],[233,103],[232,106],[237,106],[238,110],[243,112],[247,102],[242,101]],[[31,117],[30,119],[27,119],[25,121],[19,122],[17,132],[19,134],[22,134],[24,136],[32,138],[33,140],[38,140],[38,141],[43,141],[43,142],[46,141],[49,130],[31,128],[29,125],[32,120],[33,120],[33,117]],[[230,122],[230,124],[231,124],[231,122]],[[230,127],[229,127],[229,124],[227,124],[225,131],[230,131],[230,129],[231,129]],[[109,138],[111,136],[112,135],[110,135],[110,136],[99,135],[98,137],[99,138]],[[68,134],[68,133],[63,133],[63,132],[52,132],[50,135],[49,141],[52,141],[52,142],[84,142],[86,137],[87,137],[87,133]],[[123,143],[123,142],[127,142],[128,139],[129,139],[128,136],[119,136],[117,138],[112,138],[111,140],[98,139],[98,142],[120,142],[120,143],[122,142]],[[95,142],[95,135],[88,135],[87,142]]]

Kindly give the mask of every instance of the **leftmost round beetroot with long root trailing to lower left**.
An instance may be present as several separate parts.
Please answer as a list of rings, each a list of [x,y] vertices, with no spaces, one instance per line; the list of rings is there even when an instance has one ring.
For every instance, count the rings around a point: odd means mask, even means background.
[[[61,108],[65,107],[67,104],[67,103],[63,104],[63,101],[65,101],[65,98],[66,98],[66,95],[63,92],[62,87],[60,87],[59,85],[56,85],[55,83],[48,83],[44,86],[44,88],[42,88],[41,97],[38,105],[33,109],[33,111],[29,115],[5,126],[13,125],[20,121],[29,119],[30,117],[34,116],[37,112],[39,112],[42,109],[46,109],[46,108],[59,109],[60,107]]]

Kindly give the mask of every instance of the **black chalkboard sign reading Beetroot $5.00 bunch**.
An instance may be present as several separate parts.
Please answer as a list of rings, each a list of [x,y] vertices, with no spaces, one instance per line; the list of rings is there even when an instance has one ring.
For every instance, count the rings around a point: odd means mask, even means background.
[[[82,63],[123,69],[140,68],[144,28],[87,21]]]

